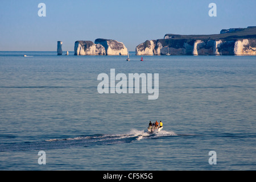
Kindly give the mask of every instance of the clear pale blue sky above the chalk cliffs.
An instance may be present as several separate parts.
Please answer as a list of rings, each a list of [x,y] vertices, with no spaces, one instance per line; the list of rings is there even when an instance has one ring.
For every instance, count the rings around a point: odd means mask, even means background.
[[[46,16],[38,16],[39,3]],[[210,17],[210,3],[217,16]],[[219,34],[256,26],[255,0],[1,0],[0,51],[74,51],[76,40],[114,39],[135,51],[165,34]]]

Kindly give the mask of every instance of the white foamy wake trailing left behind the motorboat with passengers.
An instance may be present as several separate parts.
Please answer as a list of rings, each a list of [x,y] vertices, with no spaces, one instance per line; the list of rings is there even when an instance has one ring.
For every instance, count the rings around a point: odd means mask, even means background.
[[[126,134],[95,134],[82,135],[73,138],[46,139],[39,142],[20,142],[0,144],[0,152],[3,151],[31,151],[31,150],[51,150],[70,147],[90,147],[95,145],[113,145],[130,143],[142,139],[152,139],[176,135],[172,131],[159,131],[149,134],[144,130],[132,129]]]

